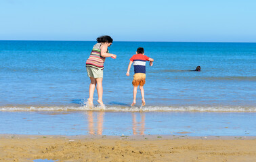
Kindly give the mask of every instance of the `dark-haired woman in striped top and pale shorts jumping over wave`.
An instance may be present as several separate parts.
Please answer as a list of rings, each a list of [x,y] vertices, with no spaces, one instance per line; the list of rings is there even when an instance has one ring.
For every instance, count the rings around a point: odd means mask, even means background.
[[[98,103],[102,106],[104,105],[102,101],[104,61],[106,57],[116,59],[116,55],[108,53],[108,47],[113,43],[113,39],[110,36],[100,36],[97,38],[97,42],[98,43],[93,46],[89,59],[86,61],[87,74],[91,79],[91,84],[89,85],[89,106],[93,106],[93,93],[95,86],[98,91]]]

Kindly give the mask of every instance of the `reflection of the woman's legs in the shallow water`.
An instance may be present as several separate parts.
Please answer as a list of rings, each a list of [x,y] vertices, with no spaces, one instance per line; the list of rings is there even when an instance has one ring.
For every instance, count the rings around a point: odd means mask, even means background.
[[[93,113],[97,115],[97,128],[96,131],[94,130],[94,121],[93,121]],[[93,111],[88,111],[88,130],[89,134],[99,134],[102,135],[102,129],[103,129],[103,119],[104,119],[104,112],[93,112]]]

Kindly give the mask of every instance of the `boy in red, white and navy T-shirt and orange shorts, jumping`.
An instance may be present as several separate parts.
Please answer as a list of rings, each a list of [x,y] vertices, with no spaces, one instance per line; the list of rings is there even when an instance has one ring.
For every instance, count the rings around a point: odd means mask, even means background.
[[[134,63],[133,63],[134,61]],[[126,75],[130,75],[131,64],[134,66],[134,76],[133,76],[133,103],[131,106],[134,106],[136,103],[136,94],[137,94],[137,86],[140,85],[140,92],[142,93],[142,106],[146,105],[144,99],[144,84],[146,79],[146,61],[150,61],[150,66],[153,65],[154,59],[144,55],[144,49],[142,47],[137,48],[136,55],[133,55],[130,59],[130,63],[128,65],[128,70]]]

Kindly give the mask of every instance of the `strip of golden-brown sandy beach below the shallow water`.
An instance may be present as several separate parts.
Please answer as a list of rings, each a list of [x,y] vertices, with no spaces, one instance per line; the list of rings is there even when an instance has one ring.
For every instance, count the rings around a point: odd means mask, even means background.
[[[256,161],[255,137],[0,135],[0,161]]]

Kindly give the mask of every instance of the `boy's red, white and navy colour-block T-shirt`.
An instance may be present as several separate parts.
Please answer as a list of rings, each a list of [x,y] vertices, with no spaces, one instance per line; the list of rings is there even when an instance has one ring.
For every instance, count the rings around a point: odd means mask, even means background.
[[[134,73],[144,73],[146,74],[146,61],[149,57],[142,54],[136,54],[131,57],[130,61],[133,61]]]

